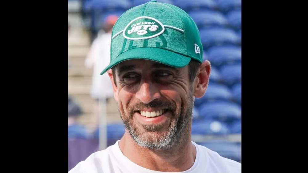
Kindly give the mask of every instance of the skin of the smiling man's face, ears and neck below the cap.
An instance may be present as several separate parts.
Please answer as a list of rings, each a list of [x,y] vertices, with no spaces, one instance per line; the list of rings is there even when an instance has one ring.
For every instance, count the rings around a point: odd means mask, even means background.
[[[204,61],[193,82],[189,81],[188,69],[188,66],[175,69],[149,60],[127,60],[116,66],[116,85],[112,71],[107,72],[121,118],[124,124],[127,123],[125,134],[119,142],[120,150],[141,167],[180,172],[194,164],[196,148],[191,143],[191,109],[194,97],[200,98],[205,94],[211,66],[209,61]],[[138,112],[166,108],[167,111],[159,118],[144,117]],[[179,132],[179,124],[183,122],[186,125]],[[172,135],[170,132],[175,127],[178,131]],[[138,138],[133,138],[132,133]],[[173,141],[170,140],[171,136],[176,136]],[[160,139],[166,140],[163,143]],[[136,141],[153,145],[144,147]],[[154,145],[160,142],[163,147]]]

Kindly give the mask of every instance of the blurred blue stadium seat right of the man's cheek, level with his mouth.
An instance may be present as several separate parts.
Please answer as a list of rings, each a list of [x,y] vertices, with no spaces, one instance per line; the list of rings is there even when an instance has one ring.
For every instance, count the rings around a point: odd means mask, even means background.
[[[215,101],[204,103],[199,108],[200,115],[204,118],[224,121],[226,123],[240,120],[241,107],[233,102]]]

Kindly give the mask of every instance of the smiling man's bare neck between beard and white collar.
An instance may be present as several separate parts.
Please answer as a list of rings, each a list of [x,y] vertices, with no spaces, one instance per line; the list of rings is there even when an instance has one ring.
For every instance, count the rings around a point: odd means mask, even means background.
[[[137,165],[155,171],[181,172],[193,166],[196,159],[196,148],[191,142],[189,133],[172,149],[153,150],[140,147],[125,133],[119,141],[122,153]]]

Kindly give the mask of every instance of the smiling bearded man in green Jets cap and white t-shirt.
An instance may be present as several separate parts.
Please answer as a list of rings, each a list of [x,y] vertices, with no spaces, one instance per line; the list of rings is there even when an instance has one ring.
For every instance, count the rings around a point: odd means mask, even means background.
[[[126,132],[69,173],[241,172],[241,163],[191,141],[194,97],[211,71],[202,53],[197,26],[178,7],[150,1],[124,13],[101,74],[113,81]]]

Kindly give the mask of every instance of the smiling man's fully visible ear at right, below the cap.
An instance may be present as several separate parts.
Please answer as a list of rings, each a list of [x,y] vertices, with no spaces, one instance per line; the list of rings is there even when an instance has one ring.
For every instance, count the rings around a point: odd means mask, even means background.
[[[204,61],[199,70],[197,71],[196,78],[194,80],[194,96],[201,98],[206,91],[209,84],[209,76],[211,73],[211,64],[209,61]]]

